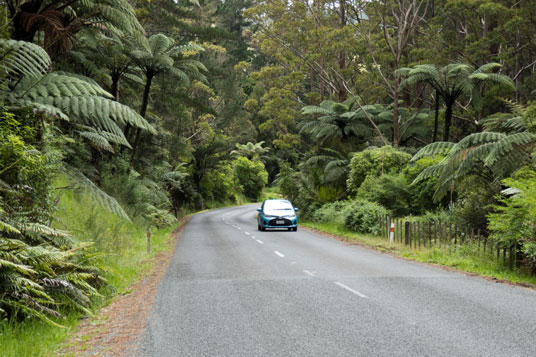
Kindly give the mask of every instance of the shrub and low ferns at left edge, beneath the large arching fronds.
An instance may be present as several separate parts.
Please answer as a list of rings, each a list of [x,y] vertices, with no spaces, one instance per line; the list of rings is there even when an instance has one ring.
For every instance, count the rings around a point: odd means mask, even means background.
[[[64,312],[90,314],[105,279],[88,245],[50,227],[54,155],[28,143],[38,139],[29,113],[0,119],[0,319],[56,325]]]

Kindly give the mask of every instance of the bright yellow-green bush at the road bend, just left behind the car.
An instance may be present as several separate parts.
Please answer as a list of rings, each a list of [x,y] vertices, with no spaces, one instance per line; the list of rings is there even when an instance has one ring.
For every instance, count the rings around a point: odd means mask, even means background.
[[[257,200],[264,186],[268,182],[268,173],[264,164],[259,160],[250,160],[247,157],[237,157],[233,162],[234,177],[242,186],[244,195]]]

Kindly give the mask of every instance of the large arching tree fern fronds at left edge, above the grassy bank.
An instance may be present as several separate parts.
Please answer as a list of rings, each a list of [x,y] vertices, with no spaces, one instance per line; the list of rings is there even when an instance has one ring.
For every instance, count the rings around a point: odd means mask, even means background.
[[[34,44],[0,40],[0,77],[5,90],[0,101],[32,107],[69,121],[80,135],[98,148],[113,151],[112,143],[130,146],[122,125],[154,128],[129,107],[110,100],[110,94],[93,80],[66,72],[47,73],[50,58]]]

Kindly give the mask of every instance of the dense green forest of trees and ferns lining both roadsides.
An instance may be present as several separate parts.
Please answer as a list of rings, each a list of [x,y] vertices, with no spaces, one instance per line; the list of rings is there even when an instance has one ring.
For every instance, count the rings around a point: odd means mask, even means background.
[[[102,296],[65,190],[164,227],[268,185],[300,219],[442,217],[536,268],[534,1],[0,4],[0,319]]]

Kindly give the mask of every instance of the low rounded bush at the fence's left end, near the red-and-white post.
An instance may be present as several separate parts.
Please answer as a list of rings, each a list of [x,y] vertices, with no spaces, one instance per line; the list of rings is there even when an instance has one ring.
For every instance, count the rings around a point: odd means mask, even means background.
[[[353,231],[379,235],[382,232],[379,216],[389,214],[381,205],[366,200],[355,200],[345,208],[344,225]]]

